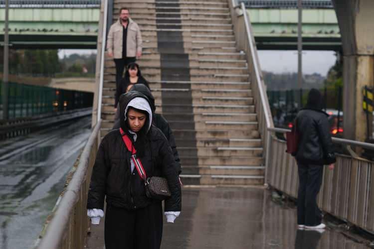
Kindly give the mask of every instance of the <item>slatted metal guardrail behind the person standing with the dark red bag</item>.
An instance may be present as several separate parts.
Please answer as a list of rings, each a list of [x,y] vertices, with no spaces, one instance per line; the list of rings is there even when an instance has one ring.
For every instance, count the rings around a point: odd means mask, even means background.
[[[297,164],[286,153],[286,141],[271,133],[288,129],[269,128],[267,182],[285,194],[297,198]],[[333,137],[333,142],[374,149],[374,144]],[[318,196],[319,207],[335,217],[374,233],[374,162],[358,156],[338,154],[335,169],[324,168],[323,182]]]

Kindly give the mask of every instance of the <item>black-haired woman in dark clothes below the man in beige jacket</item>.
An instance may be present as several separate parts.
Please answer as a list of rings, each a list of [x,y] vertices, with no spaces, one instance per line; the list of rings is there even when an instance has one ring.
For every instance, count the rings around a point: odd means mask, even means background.
[[[120,99],[121,94],[127,93],[127,88],[135,84],[144,84],[149,88],[147,80],[142,76],[142,72],[140,71],[139,65],[133,62],[127,65],[125,77],[122,78],[119,86],[117,87],[114,102],[115,111],[117,111],[118,101]]]

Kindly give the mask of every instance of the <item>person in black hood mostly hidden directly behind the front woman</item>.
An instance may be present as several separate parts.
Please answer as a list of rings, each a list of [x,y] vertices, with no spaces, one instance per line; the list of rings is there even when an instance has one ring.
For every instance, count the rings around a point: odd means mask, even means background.
[[[166,119],[161,114],[155,113],[155,111],[156,111],[155,98],[153,97],[153,95],[151,93],[151,90],[149,89],[149,87],[147,85],[136,84],[136,85],[133,85],[129,89],[129,91],[140,92],[140,93],[144,94],[150,100],[151,109],[152,109],[152,113],[153,113],[152,124],[154,124],[157,128],[159,128],[164,133],[166,138],[168,139],[169,145],[173,150],[174,159],[177,162],[176,163],[176,167],[177,167],[176,169],[177,169],[178,175],[180,175],[182,173],[182,166],[181,166],[179,153],[178,153],[178,150],[177,150],[176,140],[174,138],[173,131],[170,128],[170,125],[169,125],[168,121],[166,121]],[[119,115],[117,114],[116,117],[117,116],[119,116]],[[118,119],[118,120],[114,121],[113,129],[119,129],[119,128],[120,128],[120,120]]]

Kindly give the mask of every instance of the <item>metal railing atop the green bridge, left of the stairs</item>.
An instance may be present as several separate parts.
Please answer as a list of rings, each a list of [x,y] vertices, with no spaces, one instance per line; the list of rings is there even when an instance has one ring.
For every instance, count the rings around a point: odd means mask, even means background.
[[[99,8],[101,0],[9,0],[9,8]],[[5,0],[0,0],[0,8]]]

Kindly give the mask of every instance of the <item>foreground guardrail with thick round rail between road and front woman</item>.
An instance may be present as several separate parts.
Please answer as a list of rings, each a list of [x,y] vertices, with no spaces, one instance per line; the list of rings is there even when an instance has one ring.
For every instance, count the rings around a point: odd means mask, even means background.
[[[57,202],[38,249],[83,249],[89,228],[87,194],[92,168],[100,144],[101,120],[95,125],[78,166],[67,179],[67,187]]]

